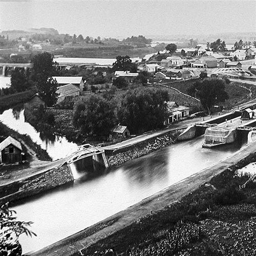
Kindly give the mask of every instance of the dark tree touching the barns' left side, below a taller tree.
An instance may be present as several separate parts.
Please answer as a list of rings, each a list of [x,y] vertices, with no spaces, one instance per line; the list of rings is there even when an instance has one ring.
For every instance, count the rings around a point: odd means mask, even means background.
[[[37,90],[41,99],[47,106],[53,106],[58,100],[57,81],[52,77],[49,77],[46,81],[44,77],[38,77]]]

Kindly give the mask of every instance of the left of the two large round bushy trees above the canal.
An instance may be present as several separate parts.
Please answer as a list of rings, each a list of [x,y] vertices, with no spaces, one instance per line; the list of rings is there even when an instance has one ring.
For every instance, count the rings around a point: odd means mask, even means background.
[[[113,100],[92,95],[77,104],[73,123],[87,135],[108,135],[116,125],[116,104]]]

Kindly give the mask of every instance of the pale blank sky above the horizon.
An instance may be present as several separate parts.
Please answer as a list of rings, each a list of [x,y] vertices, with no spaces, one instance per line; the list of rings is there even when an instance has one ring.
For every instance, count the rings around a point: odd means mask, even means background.
[[[54,28],[93,37],[256,31],[256,1],[0,0],[0,30]]]

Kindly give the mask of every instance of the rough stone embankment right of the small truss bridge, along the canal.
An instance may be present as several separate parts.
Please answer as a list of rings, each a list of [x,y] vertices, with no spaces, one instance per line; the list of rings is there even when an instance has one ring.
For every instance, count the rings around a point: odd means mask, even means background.
[[[180,133],[181,130],[175,132],[170,131],[159,137],[148,139],[133,146],[121,148],[120,150],[111,154],[107,153],[106,159],[108,160],[110,167],[121,165],[127,161],[147,155],[151,152],[174,144]]]

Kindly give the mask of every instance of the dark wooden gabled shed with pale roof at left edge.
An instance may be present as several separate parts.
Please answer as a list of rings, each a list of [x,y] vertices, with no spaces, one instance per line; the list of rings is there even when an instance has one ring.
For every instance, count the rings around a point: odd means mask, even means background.
[[[24,156],[22,144],[9,136],[0,143],[0,164],[18,163]]]

